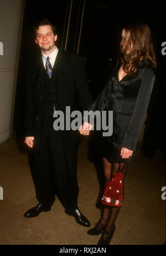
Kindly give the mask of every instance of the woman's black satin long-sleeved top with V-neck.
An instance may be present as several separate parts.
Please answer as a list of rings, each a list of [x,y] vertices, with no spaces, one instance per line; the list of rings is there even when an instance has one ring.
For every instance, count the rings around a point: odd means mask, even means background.
[[[117,149],[136,151],[155,80],[154,68],[146,60],[139,63],[134,75],[118,80],[117,63],[106,87],[89,110],[113,110],[113,135],[108,138]]]

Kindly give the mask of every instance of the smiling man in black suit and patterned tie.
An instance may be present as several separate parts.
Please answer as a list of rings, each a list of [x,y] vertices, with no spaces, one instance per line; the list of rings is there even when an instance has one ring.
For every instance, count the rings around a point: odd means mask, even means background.
[[[39,204],[24,216],[33,218],[51,210],[57,195],[67,214],[80,225],[90,227],[77,206],[79,132],[55,131],[53,114],[60,110],[65,115],[66,106],[71,111],[87,110],[92,100],[83,59],[59,51],[56,40],[55,26],[47,19],[35,27],[35,42],[42,54],[27,71],[25,144],[29,146],[28,159]]]

